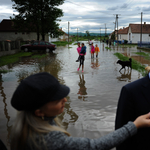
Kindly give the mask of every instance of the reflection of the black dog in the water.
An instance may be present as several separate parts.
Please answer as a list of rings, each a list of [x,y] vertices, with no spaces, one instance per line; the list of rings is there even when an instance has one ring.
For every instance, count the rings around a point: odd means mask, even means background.
[[[121,76],[117,77],[119,81],[126,81],[126,82],[131,82],[131,73],[132,70],[125,70],[124,73],[119,72]]]

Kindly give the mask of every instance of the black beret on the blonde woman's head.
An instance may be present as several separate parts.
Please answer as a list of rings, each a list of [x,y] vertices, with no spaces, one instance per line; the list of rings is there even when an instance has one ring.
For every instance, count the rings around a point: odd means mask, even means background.
[[[50,101],[66,97],[69,92],[69,87],[60,84],[51,74],[37,73],[21,81],[12,96],[11,105],[18,111],[33,111]]]

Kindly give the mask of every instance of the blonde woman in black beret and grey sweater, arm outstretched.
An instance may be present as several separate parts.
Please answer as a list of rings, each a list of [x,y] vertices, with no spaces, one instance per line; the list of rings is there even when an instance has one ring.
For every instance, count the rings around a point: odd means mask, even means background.
[[[109,150],[138,128],[150,127],[150,114],[146,114],[102,138],[72,137],[56,117],[63,112],[69,91],[49,73],[31,75],[19,84],[11,99],[18,110],[11,150]]]

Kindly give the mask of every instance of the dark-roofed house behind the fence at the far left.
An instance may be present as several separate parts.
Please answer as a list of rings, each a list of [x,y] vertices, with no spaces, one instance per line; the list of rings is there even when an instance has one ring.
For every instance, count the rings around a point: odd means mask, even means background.
[[[0,23],[0,41],[31,41],[37,39],[37,33],[35,31],[22,30],[18,31],[14,28],[14,23],[10,19],[3,19]],[[42,37],[40,36],[40,39]],[[45,36],[45,41],[49,41],[49,36]]]

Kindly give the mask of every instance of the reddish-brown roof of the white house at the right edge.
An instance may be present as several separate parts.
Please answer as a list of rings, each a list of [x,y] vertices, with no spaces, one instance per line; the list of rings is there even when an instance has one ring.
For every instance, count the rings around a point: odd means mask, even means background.
[[[132,33],[141,33],[141,24],[129,24]],[[150,24],[142,24],[142,33],[150,33]]]

